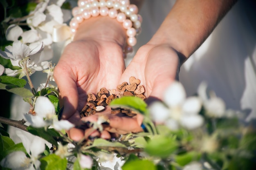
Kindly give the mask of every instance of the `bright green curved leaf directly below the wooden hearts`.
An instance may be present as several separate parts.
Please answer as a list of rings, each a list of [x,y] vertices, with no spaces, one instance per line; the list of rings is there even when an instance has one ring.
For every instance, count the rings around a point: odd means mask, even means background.
[[[126,106],[129,108],[133,108],[138,110],[140,113],[146,113],[147,111],[147,104],[139,97],[135,96],[124,96],[121,98],[117,98],[110,102],[110,106]]]

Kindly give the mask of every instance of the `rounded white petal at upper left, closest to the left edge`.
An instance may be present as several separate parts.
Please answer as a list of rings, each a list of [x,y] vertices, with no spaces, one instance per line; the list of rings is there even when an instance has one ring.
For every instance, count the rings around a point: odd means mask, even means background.
[[[11,24],[8,26],[5,36],[8,41],[16,41],[22,33],[23,30],[20,28],[20,26]]]

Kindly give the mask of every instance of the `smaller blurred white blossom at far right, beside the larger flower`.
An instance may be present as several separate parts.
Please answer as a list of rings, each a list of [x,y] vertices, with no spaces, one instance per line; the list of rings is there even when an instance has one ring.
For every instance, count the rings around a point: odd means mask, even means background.
[[[201,97],[206,114],[210,117],[223,117],[226,111],[226,104],[213,91],[207,93],[207,84],[202,82],[198,86],[198,95]]]

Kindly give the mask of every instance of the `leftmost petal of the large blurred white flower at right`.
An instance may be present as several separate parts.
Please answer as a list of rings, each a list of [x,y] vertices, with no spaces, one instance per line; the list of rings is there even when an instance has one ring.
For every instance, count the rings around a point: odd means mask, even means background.
[[[169,109],[164,106],[161,102],[154,102],[149,106],[149,112],[156,122],[164,122],[169,116]]]

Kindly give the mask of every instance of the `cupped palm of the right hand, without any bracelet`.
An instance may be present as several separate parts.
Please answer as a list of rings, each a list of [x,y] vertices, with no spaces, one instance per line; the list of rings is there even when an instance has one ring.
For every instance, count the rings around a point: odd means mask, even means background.
[[[147,44],[137,51],[120,82],[134,76],[145,86],[146,97],[162,99],[164,89],[177,78],[177,66],[178,57],[171,48]]]

